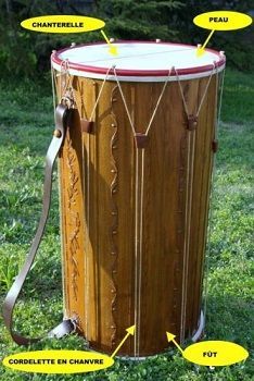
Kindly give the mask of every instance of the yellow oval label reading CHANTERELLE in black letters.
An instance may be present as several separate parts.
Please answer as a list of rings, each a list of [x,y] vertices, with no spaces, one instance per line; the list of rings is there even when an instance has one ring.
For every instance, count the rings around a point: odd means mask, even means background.
[[[56,14],[27,19],[21,23],[21,26],[42,33],[81,33],[101,29],[105,23],[93,17]]]

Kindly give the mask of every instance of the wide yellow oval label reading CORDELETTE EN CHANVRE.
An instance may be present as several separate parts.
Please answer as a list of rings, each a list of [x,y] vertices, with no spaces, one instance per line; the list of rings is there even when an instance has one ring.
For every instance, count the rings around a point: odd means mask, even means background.
[[[33,373],[84,373],[109,368],[114,359],[94,352],[35,351],[8,356],[2,362],[14,370]]]

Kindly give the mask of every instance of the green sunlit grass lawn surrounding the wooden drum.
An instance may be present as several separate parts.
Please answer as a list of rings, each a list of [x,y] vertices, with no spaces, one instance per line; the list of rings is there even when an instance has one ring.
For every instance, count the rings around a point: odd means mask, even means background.
[[[0,304],[33,239],[40,214],[43,157],[52,134],[52,100],[45,83],[1,83],[0,120]],[[249,352],[253,343],[253,88],[254,77],[227,71],[215,176],[207,294],[206,340],[228,340]],[[56,172],[54,173],[56,177]],[[58,184],[46,236],[15,310],[15,327],[42,334],[61,320]],[[0,318],[1,319],[1,318]],[[152,334],[152,333],[151,333]],[[84,349],[76,335],[45,339],[30,349]],[[0,320],[1,358],[26,351],[12,343]],[[185,360],[176,348],[136,364],[116,360],[107,370],[28,374],[0,366],[3,381],[241,381],[252,380],[251,359],[209,369]]]

